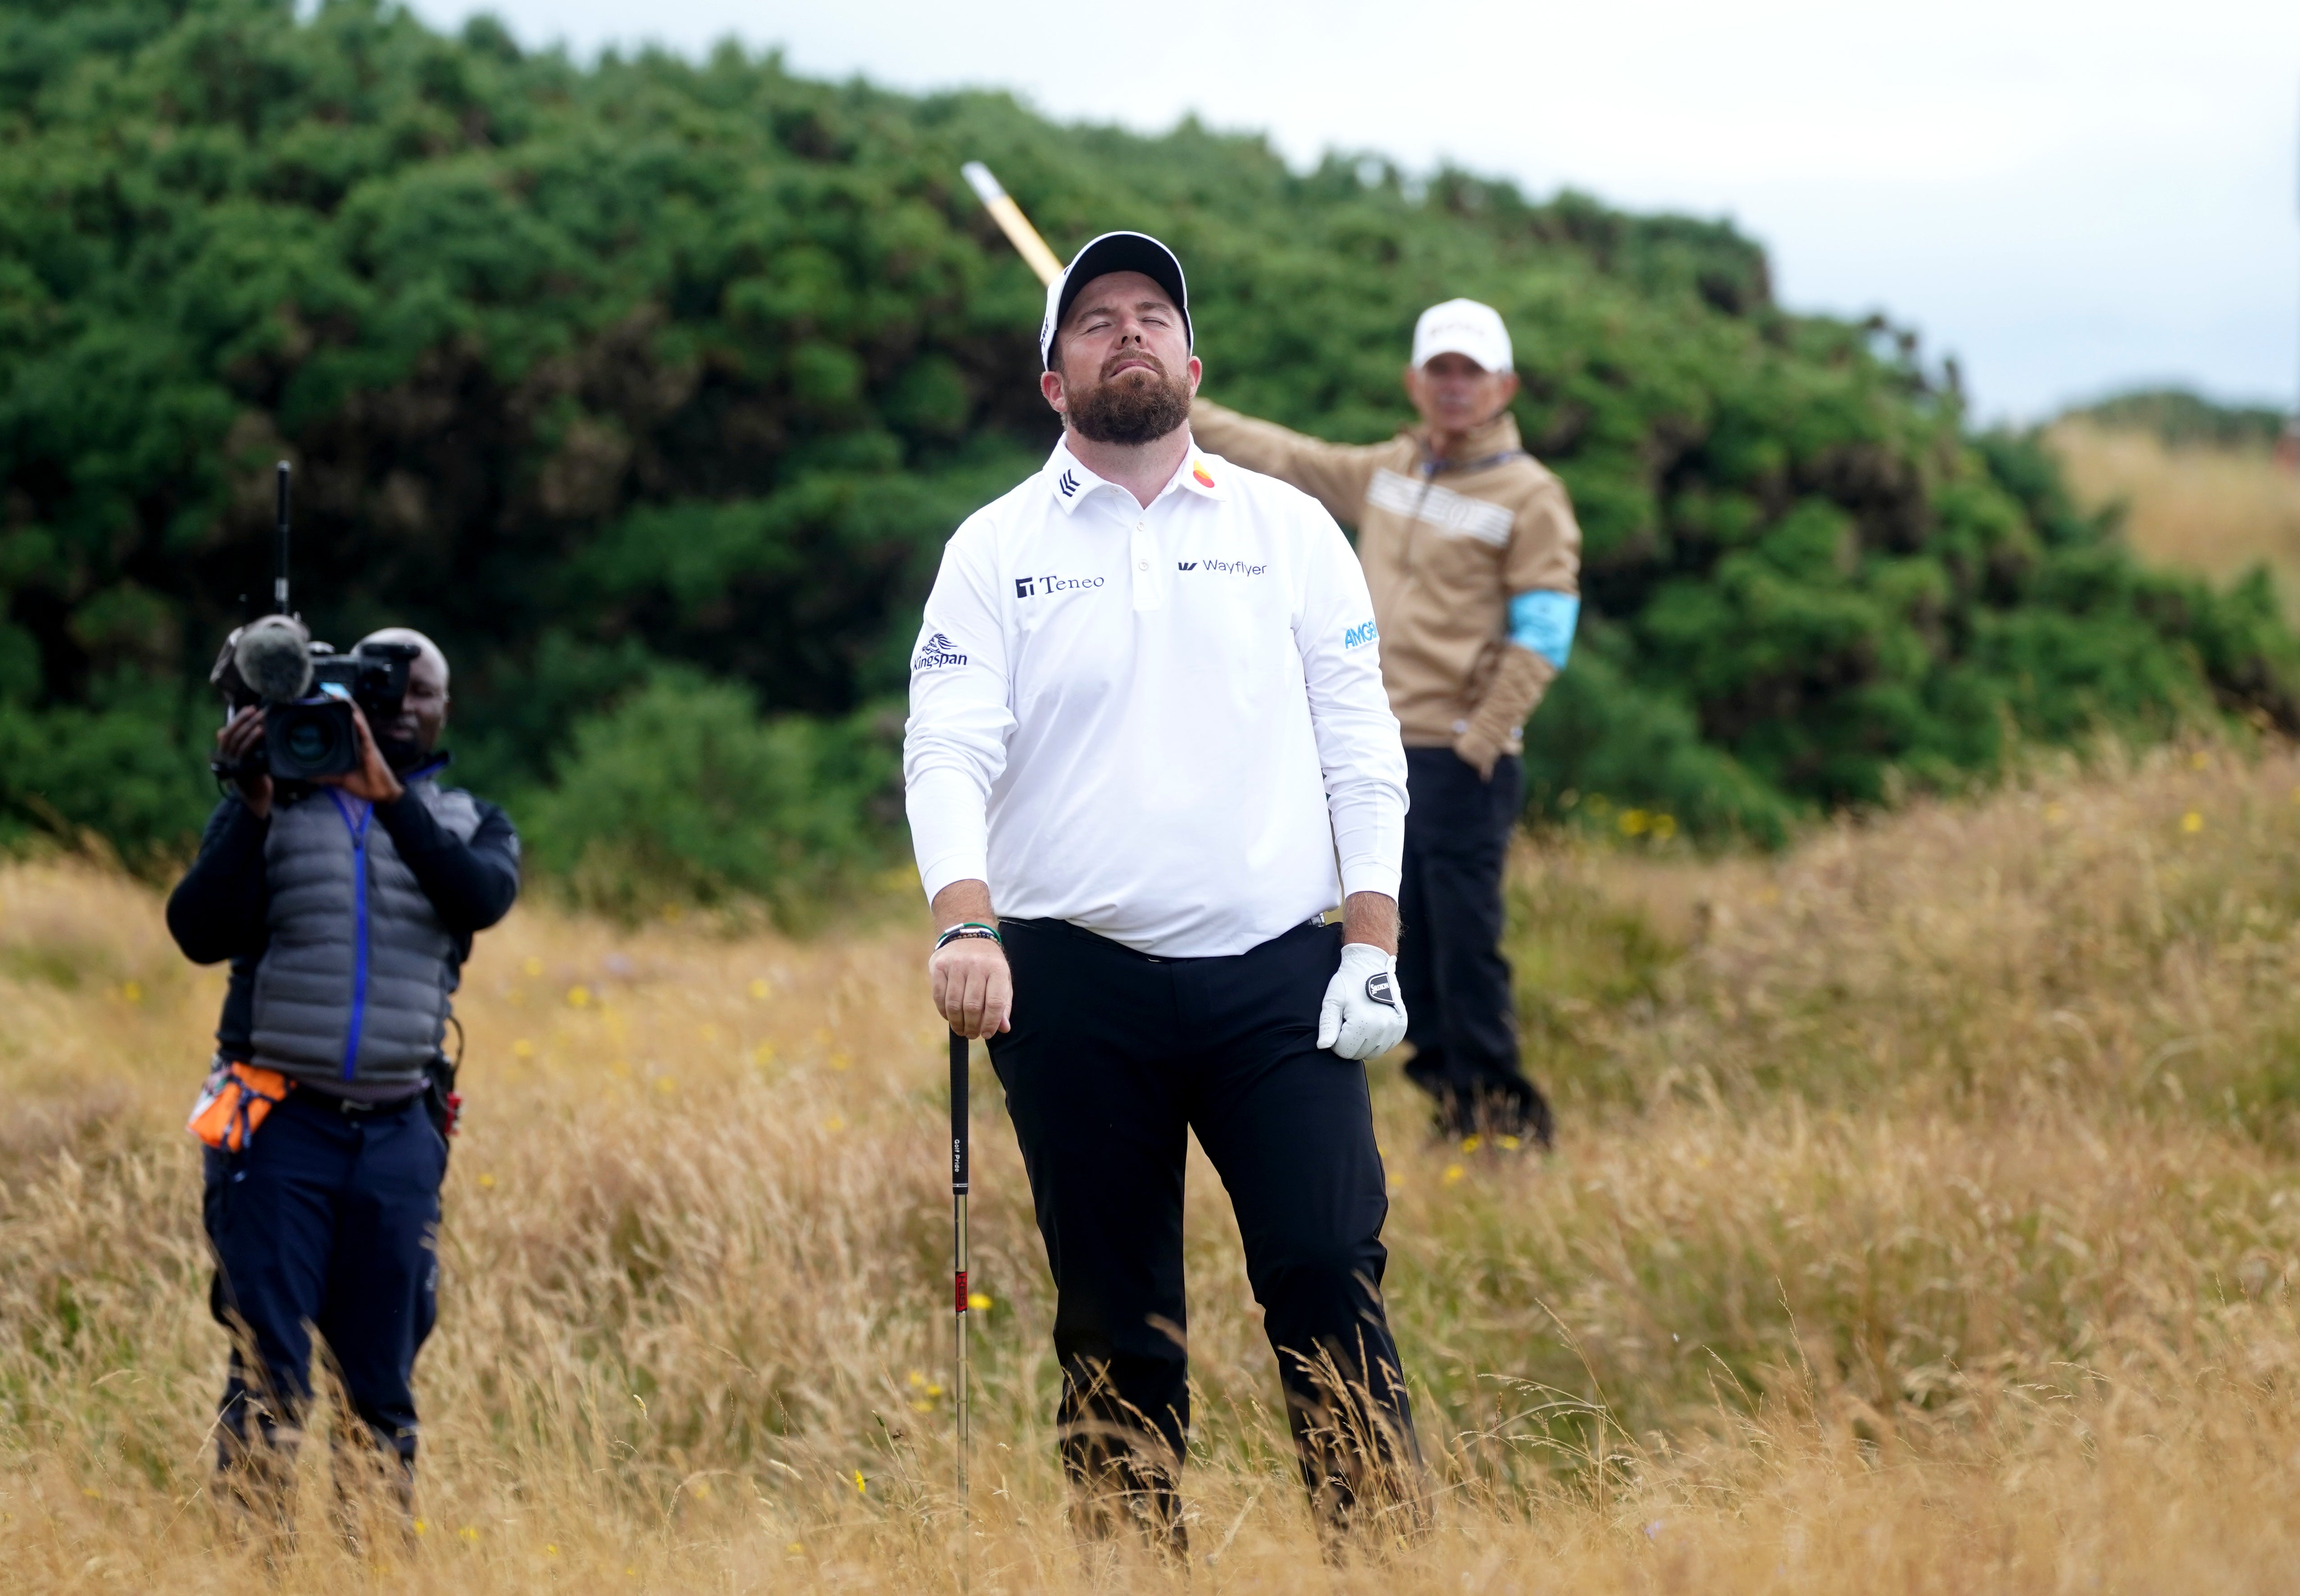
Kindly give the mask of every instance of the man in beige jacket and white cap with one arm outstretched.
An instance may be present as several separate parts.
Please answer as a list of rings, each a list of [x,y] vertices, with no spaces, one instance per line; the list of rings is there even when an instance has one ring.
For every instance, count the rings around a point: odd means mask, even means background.
[[[1474,299],[1424,310],[1405,393],[1421,425],[1387,444],[1327,444],[1203,398],[1189,421],[1208,448],[1357,527],[1414,800],[1398,931],[1405,1074],[1438,1099],[1440,1131],[1548,1145],[1550,1104],[1518,1060],[1502,872],[1525,720],[1573,649],[1580,527],[1564,483],[1518,439],[1500,313]]]

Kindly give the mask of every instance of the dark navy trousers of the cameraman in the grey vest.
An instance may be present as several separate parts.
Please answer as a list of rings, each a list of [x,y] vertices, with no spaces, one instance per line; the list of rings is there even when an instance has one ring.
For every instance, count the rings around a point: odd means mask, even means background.
[[[446,1143],[421,1095],[361,1111],[299,1085],[241,1152],[207,1152],[209,1306],[232,1332],[216,1447],[244,1490],[283,1488],[310,1407],[317,1329],[407,1499],[412,1378],[437,1313],[444,1175]],[[269,1506],[283,1502],[274,1495]]]

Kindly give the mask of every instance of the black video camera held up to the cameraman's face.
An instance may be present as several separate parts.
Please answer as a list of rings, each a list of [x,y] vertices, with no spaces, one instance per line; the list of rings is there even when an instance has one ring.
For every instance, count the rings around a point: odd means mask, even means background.
[[[336,653],[315,642],[299,619],[274,614],[223,639],[209,681],[223,692],[228,715],[255,704],[264,711],[264,741],[248,764],[281,782],[317,782],[359,768],[354,704],[370,729],[398,718],[416,653],[412,644],[361,644]],[[221,759],[209,768],[223,777],[246,773]]]

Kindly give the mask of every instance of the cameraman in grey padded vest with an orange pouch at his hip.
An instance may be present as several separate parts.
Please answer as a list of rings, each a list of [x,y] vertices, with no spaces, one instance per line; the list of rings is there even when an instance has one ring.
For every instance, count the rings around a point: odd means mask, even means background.
[[[241,768],[237,791],[168,899],[184,957],[232,961],[218,1067],[288,1079],[237,1152],[207,1150],[202,1200],[216,1253],[209,1306],[232,1332],[218,1467],[232,1499],[281,1529],[294,1509],[313,1327],[412,1509],[409,1378],[437,1304],[453,1088],[439,1044],[471,934],[520,892],[520,839],[504,812],[432,780],[446,764],[432,757],[446,655],[407,628],[368,644],[419,653],[393,718],[370,729],[354,706],[359,766],[274,789],[262,708],[232,715],[216,747]],[[347,1463],[338,1458],[338,1495]]]

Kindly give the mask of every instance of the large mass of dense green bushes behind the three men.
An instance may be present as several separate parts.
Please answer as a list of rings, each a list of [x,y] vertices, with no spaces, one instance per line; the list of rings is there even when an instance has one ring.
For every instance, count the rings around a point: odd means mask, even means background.
[[[1603,793],[1780,837],[1987,775],[2008,736],[2295,722],[2259,593],[2132,568],[2040,453],[1966,432],[1911,338],[1780,310],[1727,225],[1290,172],[1258,138],[734,48],[577,67],[488,21],[294,11],[0,0],[18,830],[133,858],[191,835],[198,683],[267,589],[285,455],[306,614],[435,632],[458,770],[593,897],[775,895],[890,846],[885,793],[851,798],[892,780],[869,711],[902,695],[943,538],[1053,437],[1037,283],[964,159],[1056,248],[1168,237],[1210,391],[1329,437],[1401,423],[1424,304],[1502,308],[1520,423],[1589,536],[1582,653],[1532,727],[1541,812]]]

